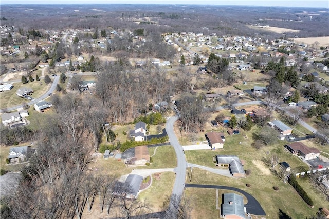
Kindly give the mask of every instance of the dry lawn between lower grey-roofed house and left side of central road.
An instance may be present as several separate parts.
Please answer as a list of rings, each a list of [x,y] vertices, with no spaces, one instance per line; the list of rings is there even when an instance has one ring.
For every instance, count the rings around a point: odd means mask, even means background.
[[[161,211],[167,196],[171,195],[175,175],[173,172],[163,172],[152,175],[152,184],[139,193],[138,198],[152,205],[153,212]]]

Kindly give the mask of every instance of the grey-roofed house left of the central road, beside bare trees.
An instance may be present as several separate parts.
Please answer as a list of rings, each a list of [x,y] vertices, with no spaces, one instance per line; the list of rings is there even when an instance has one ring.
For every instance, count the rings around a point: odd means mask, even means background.
[[[129,174],[124,183],[117,182],[115,185],[115,193],[124,195],[127,198],[137,198],[143,177],[137,174]]]

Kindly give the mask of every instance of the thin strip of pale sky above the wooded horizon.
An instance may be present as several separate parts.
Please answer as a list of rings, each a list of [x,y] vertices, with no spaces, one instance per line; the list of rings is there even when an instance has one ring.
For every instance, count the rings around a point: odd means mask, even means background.
[[[329,0],[0,0],[0,4],[180,4],[329,8]]]

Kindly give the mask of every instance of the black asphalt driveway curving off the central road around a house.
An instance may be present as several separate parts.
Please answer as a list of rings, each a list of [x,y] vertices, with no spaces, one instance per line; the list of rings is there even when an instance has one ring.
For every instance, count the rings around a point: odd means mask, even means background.
[[[259,204],[259,202],[248,192],[245,192],[241,189],[229,187],[229,186],[216,186],[216,185],[202,185],[202,184],[185,184],[185,187],[187,188],[209,188],[209,189],[226,189],[226,190],[233,190],[236,192],[242,193],[244,196],[246,196],[248,203],[245,204],[245,207],[247,209],[247,213],[253,214],[253,215],[266,215],[265,211],[263,210],[262,206]]]

